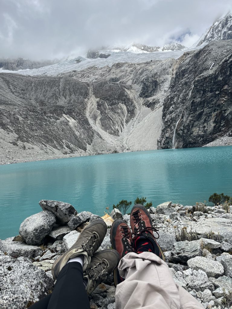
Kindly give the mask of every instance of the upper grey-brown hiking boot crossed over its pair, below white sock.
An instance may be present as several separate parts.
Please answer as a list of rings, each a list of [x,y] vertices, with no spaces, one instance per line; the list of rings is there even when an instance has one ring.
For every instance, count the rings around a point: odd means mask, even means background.
[[[107,226],[102,220],[95,220],[89,223],[80,233],[74,245],[60,256],[52,265],[52,275],[57,279],[61,269],[67,264],[69,259],[76,256],[84,256],[83,271],[88,269],[90,259],[94,252],[100,247],[105,234]]]

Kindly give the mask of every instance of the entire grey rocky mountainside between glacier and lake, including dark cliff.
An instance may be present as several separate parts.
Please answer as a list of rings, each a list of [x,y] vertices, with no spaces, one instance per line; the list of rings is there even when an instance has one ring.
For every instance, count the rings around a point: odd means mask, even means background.
[[[1,163],[203,146],[231,132],[231,40],[177,60],[0,73]]]

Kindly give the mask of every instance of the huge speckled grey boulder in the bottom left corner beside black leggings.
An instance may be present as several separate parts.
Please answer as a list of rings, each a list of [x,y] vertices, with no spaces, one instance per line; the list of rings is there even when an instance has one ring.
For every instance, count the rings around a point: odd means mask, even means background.
[[[0,256],[0,307],[24,309],[53,289],[53,280],[31,263]]]

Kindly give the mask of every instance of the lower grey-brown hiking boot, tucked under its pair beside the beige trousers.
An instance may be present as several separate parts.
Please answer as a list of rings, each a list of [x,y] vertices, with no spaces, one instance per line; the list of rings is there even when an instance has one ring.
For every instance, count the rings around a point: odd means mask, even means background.
[[[83,277],[87,294],[91,294],[103,280],[107,279],[118,263],[119,254],[116,250],[105,249],[96,252],[91,258],[88,272],[84,273]]]

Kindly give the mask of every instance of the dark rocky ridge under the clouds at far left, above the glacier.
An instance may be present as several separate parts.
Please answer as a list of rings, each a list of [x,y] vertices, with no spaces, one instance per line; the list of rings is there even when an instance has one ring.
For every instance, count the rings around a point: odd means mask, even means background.
[[[32,61],[23,58],[17,58],[17,59],[0,58],[0,68],[3,68],[3,70],[18,71],[18,70],[41,68],[43,66],[50,66],[57,62],[58,60]]]

